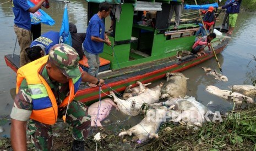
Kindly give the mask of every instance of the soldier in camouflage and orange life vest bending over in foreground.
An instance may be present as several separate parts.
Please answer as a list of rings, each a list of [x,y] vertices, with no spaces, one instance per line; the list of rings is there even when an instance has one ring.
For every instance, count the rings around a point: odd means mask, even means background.
[[[66,115],[67,123],[73,126],[72,136],[74,142],[72,150],[84,150],[84,140],[88,137],[91,123],[88,109],[83,103],[72,101],[70,99],[71,102],[68,102],[66,106],[61,107],[61,103],[65,102],[65,98],[70,98],[69,95],[72,94],[72,89],[69,88],[70,79],[73,80],[80,77],[83,82],[95,83],[97,85],[103,84],[104,80],[92,77],[90,74],[81,70],[78,65],[78,54],[72,47],[69,47],[66,44],[57,44],[53,46],[50,54],[45,57],[47,58],[44,60],[48,59],[47,62],[45,61],[45,63],[43,63],[43,58],[41,58],[36,60],[37,62],[34,61],[34,64],[31,62],[28,65],[19,68],[17,73],[17,96],[15,97],[12,113],[10,114],[10,117],[12,118],[11,141],[13,150],[26,150],[25,131],[27,123],[27,133],[30,136],[32,143],[35,144],[36,150],[51,150],[53,146],[52,124],[40,122],[45,121],[45,119],[49,117],[42,117],[39,119],[40,121],[33,118],[36,113],[39,113],[36,112],[35,108],[38,108],[38,104],[35,104],[36,100],[34,100],[35,93],[38,91],[34,91],[34,89],[31,88],[31,82],[28,77],[37,77],[38,74],[46,81],[47,84],[44,85],[50,86],[49,88],[53,92],[53,97],[55,97],[57,103],[58,112],[56,112],[56,114],[58,114],[58,117]],[[36,66],[39,63],[41,63],[42,66],[38,71],[35,71],[33,66]],[[22,71],[25,71],[25,78],[20,80],[19,75],[23,73]],[[33,73],[35,75],[29,75],[28,73]],[[78,82],[80,83],[79,80]],[[74,90],[75,88],[73,91]],[[45,94],[40,95],[42,96]],[[50,97],[50,95],[48,97]],[[45,100],[42,100],[45,99],[45,97],[40,99],[39,106],[46,102]],[[55,99],[50,97],[51,101]],[[54,103],[52,102],[50,105],[51,104],[51,108],[54,108]],[[53,123],[55,122],[56,121],[53,121]]]

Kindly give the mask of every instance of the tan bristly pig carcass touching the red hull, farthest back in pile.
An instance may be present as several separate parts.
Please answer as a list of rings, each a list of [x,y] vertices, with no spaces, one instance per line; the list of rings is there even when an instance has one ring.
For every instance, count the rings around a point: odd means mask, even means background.
[[[187,94],[187,79],[182,73],[166,73],[167,83],[162,86],[161,98],[183,98]]]

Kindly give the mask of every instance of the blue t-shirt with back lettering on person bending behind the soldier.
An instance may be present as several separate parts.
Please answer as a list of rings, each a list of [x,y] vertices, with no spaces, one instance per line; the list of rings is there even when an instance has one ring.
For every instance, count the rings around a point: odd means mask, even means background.
[[[48,55],[53,45],[59,43],[59,32],[48,31],[43,33],[39,38],[36,38],[30,45],[30,47],[41,44],[45,46],[45,54]]]

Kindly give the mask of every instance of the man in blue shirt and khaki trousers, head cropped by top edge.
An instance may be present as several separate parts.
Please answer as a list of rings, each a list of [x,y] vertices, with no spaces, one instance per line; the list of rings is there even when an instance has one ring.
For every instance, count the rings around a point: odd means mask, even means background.
[[[25,48],[28,48],[31,44],[31,19],[30,12],[35,13],[41,8],[42,3],[45,0],[41,0],[34,7],[30,7],[26,0],[13,0],[12,7],[14,13],[14,32],[17,34],[18,42],[20,45],[20,67],[30,62],[28,56],[25,53]]]

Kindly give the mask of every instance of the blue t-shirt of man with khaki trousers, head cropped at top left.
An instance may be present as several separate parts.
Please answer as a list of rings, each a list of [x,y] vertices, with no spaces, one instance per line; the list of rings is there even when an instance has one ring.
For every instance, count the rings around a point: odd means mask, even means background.
[[[13,0],[13,13],[14,13],[14,24],[20,28],[30,30],[31,18],[30,18],[30,5],[26,0]]]

